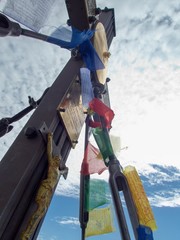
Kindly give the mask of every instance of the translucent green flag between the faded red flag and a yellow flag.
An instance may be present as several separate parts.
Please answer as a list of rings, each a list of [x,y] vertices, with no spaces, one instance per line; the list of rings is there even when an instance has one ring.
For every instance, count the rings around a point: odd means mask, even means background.
[[[94,208],[110,202],[110,191],[106,181],[100,179],[91,179],[89,181],[89,185],[86,185],[85,187],[88,187],[88,189],[85,189],[85,191],[86,193],[89,193],[89,202],[86,205],[87,211],[93,210]]]

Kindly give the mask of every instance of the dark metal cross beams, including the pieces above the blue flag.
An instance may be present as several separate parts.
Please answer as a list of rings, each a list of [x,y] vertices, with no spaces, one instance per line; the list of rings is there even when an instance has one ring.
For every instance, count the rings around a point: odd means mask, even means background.
[[[80,30],[88,29],[90,27],[88,16],[95,11],[94,5],[90,4],[90,1],[87,4],[86,0],[67,0],[66,5],[71,24],[76,25]],[[90,11],[89,6],[91,6]],[[110,46],[115,36],[113,9],[102,11],[99,20],[105,27],[108,46]],[[83,64],[82,60],[77,61],[73,57],[69,60],[0,162],[1,240],[20,239],[21,231],[24,230],[34,211],[35,193],[47,173],[44,132],[53,132],[53,142],[59,148],[64,165],[66,163],[72,148],[72,140],[57,109],[63,104],[72,85],[78,84],[77,77]],[[35,239],[38,230],[35,231],[32,239]]]

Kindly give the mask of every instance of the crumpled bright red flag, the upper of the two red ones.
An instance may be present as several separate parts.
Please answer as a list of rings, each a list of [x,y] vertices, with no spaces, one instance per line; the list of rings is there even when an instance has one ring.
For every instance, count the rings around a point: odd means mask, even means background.
[[[105,124],[107,128],[111,128],[111,122],[114,118],[114,112],[108,106],[106,106],[102,101],[98,98],[94,98],[90,103],[89,107],[98,115],[104,117]]]

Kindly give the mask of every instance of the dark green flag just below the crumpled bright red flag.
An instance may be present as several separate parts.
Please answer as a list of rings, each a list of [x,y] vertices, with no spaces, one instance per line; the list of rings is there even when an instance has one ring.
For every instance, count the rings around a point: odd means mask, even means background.
[[[104,159],[105,165],[108,166],[109,156],[114,155],[114,151],[111,145],[109,134],[107,131],[104,131],[102,128],[92,129],[93,136],[96,140],[96,143],[99,147],[99,150]]]

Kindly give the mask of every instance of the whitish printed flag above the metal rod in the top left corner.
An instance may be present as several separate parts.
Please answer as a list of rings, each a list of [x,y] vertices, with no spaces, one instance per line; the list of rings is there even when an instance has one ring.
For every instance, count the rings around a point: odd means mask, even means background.
[[[46,23],[55,0],[7,0],[3,12],[28,28],[38,32]]]

